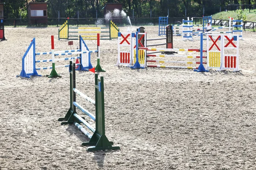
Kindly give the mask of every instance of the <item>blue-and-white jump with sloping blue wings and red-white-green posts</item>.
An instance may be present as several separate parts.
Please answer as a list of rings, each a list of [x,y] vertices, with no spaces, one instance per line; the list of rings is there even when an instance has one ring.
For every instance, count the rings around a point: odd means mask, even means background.
[[[31,76],[41,76],[37,73],[38,70],[46,70],[46,69],[52,69],[51,74],[48,76],[49,78],[52,77],[60,77],[57,72],[55,71],[55,68],[60,68],[60,67],[69,67],[69,65],[58,65],[55,66],[55,61],[64,61],[64,60],[73,60],[73,59],[79,59],[80,63],[76,64],[77,70],[81,71],[88,71],[90,68],[93,68],[90,62],[90,56],[91,53],[97,53],[98,58],[97,58],[97,66],[96,70],[98,72],[102,72],[101,66],[99,65],[99,34],[97,35],[97,50],[90,51],[85,44],[84,40],[82,37],[79,39],[79,49],[76,50],[66,50],[66,51],[54,51],[54,38],[53,36],[51,37],[51,44],[52,44],[52,51],[50,52],[40,52],[37,53],[35,52],[35,38],[33,38],[32,42],[30,43],[28,49],[26,50],[26,53],[22,57],[22,71],[20,75],[17,75],[17,77],[26,77],[30,78]],[[36,56],[40,55],[52,55],[52,59],[41,59],[41,60],[36,60]],[[77,55],[77,57],[68,57],[68,58],[56,58],[56,56],[66,56],[66,55]],[[36,68],[36,63],[41,63],[41,62],[52,62],[52,67],[41,67],[41,68]]]

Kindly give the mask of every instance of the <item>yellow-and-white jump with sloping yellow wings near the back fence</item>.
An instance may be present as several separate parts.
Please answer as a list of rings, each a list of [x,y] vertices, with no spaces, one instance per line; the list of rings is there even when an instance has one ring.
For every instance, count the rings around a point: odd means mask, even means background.
[[[73,29],[75,30],[86,29],[90,31],[74,31]],[[99,29],[106,30],[106,31],[97,31]],[[119,28],[116,26],[116,24],[112,22],[112,20],[109,21],[109,27],[71,27],[67,20],[58,30],[58,40],[61,40],[61,39],[78,40],[79,35],[81,35],[81,37],[83,37],[84,40],[97,40],[96,38],[97,35],[95,33],[102,33],[100,34],[100,40],[111,40],[111,39],[117,38],[118,32],[119,32]],[[76,37],[76,38],[73,38],[73,37]]]

